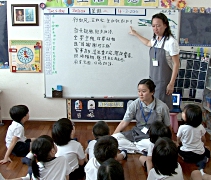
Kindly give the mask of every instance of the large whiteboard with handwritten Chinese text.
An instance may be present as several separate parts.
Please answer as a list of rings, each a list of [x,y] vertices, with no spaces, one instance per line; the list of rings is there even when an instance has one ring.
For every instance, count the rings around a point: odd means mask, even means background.
[[[149,78],[149,47],[129,34],[130,26],[151,39],[151,17],[159,12],[167,15],[177,38],[177,10],[46,8],[46,97],[57,85],[64,98],[137,97],[138,82]]]

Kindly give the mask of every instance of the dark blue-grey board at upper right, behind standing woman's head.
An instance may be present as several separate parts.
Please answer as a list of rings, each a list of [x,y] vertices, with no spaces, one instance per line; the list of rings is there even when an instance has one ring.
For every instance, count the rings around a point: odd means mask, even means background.
[[[181,11],[180,46],[211,47],[210,8],[186,8]]]

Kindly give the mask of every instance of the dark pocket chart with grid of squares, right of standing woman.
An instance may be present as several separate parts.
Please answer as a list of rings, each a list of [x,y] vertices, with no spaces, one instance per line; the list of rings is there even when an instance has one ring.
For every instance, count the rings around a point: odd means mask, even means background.
[[[174,92],[182,95],[183,102],[204,102],[204,93],[208,90],[206,88],[207,77],[209,70],[211,71],[209,63],[209,54],[204,57],[204,54],[200,55],[193,51],[180,51],[180,69],[175,81]]]

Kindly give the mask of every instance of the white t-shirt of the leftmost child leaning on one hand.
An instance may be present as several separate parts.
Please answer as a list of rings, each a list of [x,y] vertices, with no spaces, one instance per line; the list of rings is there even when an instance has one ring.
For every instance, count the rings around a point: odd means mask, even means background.
[[[12,138],[16,136],[18,137],[18,141],[25,142],[26,137],[24,136],[24,127],[20,123],[16,121],[12,121],[12,124],[9,126],[7,130],[7,135],[5,138],[7,148],[10,146],[12,142]]]

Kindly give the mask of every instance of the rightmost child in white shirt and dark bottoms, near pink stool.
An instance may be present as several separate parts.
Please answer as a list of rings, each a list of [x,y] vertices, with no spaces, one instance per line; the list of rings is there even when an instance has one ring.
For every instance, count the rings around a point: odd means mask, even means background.
[[[198,105],[188,104],[182,112],[185,124],[177,132],[179,155],[186,162],[197,163],[198,166],[207,162],[210,151],[204,147],[206,130],[202,126],[202,110]]]

